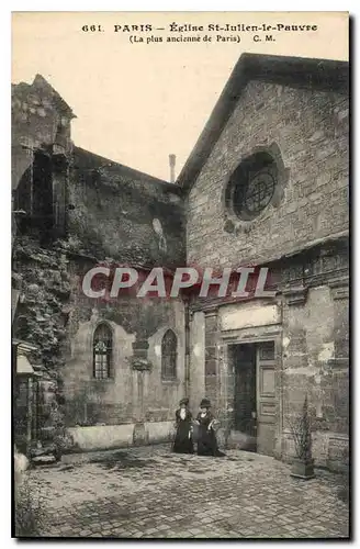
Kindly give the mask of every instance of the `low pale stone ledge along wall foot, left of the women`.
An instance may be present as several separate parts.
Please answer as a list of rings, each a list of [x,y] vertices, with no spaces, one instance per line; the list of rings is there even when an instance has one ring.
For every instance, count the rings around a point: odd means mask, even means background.
[[[170,441],[172,422],[71,427],[68,433],[74,440],[72,451],[109,450]]]

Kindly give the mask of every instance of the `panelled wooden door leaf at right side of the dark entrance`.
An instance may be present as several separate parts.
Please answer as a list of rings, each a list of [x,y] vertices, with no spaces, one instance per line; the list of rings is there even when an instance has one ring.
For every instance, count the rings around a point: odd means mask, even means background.
[[[273,455],[275,434],[274,341],[257,344],[257,451]]]

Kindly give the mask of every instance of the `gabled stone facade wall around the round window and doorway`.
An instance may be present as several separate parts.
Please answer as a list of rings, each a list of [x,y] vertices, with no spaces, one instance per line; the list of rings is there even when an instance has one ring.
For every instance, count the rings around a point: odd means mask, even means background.
[[[348,451],[348,256],[346,238],[340,239],[348,231],[348,114],[347,90],[250,81],[187,204],[188,262],[267,265],[280,307],[280,332],[271,336],[273,318],[262,309],[256,313],[257,301],[251,314],[246,302],[229,306],[228,299],[192,303],[204,329],[199,333],[198,321],[191,326],[191,377],[196,388],[200,372],[205,380],[198,394],[203,390],[212,399],[229,437],[234,372],[227,346],[269,333],[278,349],[274,455],[293,456],[286,418],[301,411],[307,393],[315,460],[335,468]],[[229,208],[226,189],[240,161],[260,150],[279,168],[275,200],[245,222]],[[218,318],[228,306],[233,316],[224,326]],[[241,329],[232,328],[236,315]],[[203,356],[194,352],[200,340]]]

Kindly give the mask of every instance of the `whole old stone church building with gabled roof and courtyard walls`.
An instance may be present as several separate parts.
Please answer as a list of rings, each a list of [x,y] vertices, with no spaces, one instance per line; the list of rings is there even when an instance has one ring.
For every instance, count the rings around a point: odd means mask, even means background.
[[[166,441],[179,400],[195,413],[207,396],[222,446],[288,460],[306,396],[315,463],[346,463],[348,103],[347,63],[244,54],[167,182],[75,146],[75,114],[40,75],[13,86],[13,336],[37,376],[24,396],[14,374],[27,438],[61,417],[68,451]],[[81,281],[97,265],[262,266],[275,295],[93,300]]]

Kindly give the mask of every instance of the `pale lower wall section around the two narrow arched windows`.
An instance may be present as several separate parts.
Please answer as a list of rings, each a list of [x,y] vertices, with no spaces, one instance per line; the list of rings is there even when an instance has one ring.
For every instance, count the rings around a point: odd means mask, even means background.
[[[86,266],[83,269],[86,270]],[[185,393],[184,311],[179,300],[120,298],[91,300],[80,289],[82,273],[71,262],[71,300],[63,369],[68,426],[122,425],[172,421]],[[93,377],[93,333],[105,321],[112,329],[112,373]],[[168,328],[177,336],[177,377],[161,379],[161,340]],[[134,366],[143,345],[144,371]]]

